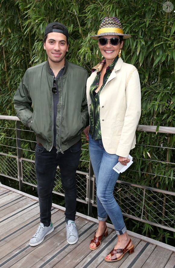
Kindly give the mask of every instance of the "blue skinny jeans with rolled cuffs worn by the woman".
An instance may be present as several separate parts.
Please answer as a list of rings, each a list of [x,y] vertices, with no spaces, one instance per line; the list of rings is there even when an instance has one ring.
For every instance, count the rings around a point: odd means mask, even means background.
[[[106,221],[109,215],[116,234],[122,235],[126,232],[126,226],[121,209],[113,196],[114,186],[119,177],[113,167],[118,163],[119,156],[107,153],[102,140],[94,140],[90,134],[89,153],[97,188],[98,220]]]

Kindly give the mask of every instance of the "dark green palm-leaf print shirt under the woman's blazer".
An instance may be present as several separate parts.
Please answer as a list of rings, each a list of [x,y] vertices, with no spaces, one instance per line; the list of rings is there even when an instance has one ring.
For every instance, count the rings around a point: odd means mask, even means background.
[[[118,56],[114,61],[106,68],[106,73],[103,77],[103,85],[100,90],[96,93],[95,90],[99,85],[101,70],[106,62],[104,59],[102,62],[93,67],[92,72],[97,70],[97,76],[90,87],[90,96],[91,96],[91,110],[90,110],[90,129],[89,133],[95,140],[101,139],[101,127],[100,127],[100,92],[102,91],[104,85],[106,84],[111,72],[114,69],[114,66],[118,60]],[[94,92],[94,93],[93,93]]]

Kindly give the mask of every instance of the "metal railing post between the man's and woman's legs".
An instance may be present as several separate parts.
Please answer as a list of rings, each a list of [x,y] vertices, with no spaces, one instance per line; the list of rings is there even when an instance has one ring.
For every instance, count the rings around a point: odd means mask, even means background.
[[[94,172],[89,161],[89,176],[88,176],[88,216],[92,217],[92,204],[94,204]]]

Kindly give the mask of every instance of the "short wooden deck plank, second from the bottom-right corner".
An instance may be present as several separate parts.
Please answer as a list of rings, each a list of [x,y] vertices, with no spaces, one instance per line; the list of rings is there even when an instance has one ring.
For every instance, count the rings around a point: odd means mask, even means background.
[[[164,268],[171,254],[172,251],[157,246],[142,268]]]

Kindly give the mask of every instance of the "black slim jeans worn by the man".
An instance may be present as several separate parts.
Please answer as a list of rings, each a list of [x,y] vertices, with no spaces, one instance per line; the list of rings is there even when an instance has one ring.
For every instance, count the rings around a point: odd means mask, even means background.
[[[43,146],[35,148],[35,170],[40,204],[40,221],[49,226],[51,221],[52,190],[59,165],[61,182],[65,191],[65,221],[75,221],[76,214],[76,170],[80,160],[81,140],[62,154],[52,148],[49,152]]]

